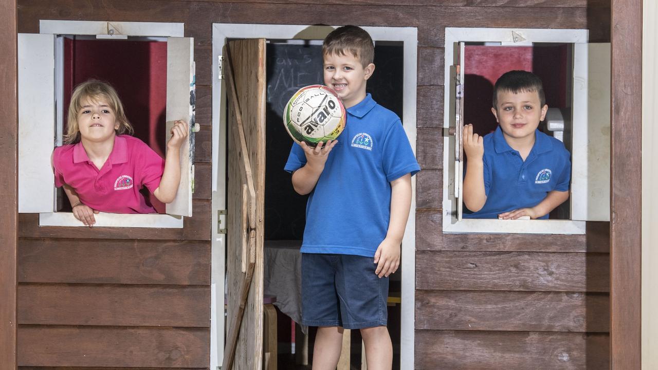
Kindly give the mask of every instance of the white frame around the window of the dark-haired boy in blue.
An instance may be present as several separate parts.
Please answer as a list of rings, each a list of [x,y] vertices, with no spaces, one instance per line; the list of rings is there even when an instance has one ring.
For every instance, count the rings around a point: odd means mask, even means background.
[[[454,104],[451,91],[451,66],[455,57],[455,44],[459,42],[499,42],[501,45],[532,45],[532,43],[573,43],[574,45],[588,42],[588,30],[549,30],[528,28],[445,28],[445,63],[444,63],[444,96],[443,96],[443,128],[449,131],[451,126],[451,105]],[[587,58],[575,57],[574,78],[582,76],[587,71]],[[468,72],[468,71],[466,71]],[[580,77],[579,77],[580,78]],[[576,101],[586,101],[586,78],[584,88],[574,92],[572,103],[572,121],[587,120],[586,103],[575,106]],[[581,81],[580,86],[583,86]],[[468,89],[468,86],[465,86]],[[582,97],[584,95],[584,99]],[[580,99],[580,100],[579,100]],[[574,132],[575,133],[575,132]],[[455,201],[455,182],[457,191],[461,188],[461,178],[455,176],[455,137],[443,137],[443,232],[478,232],[478,233],[520,233],[520,234],[585,234],[585,221],[577,220],[497,220],[497,219],[457,219],[457,201]],[[584,138],[587,139],[586,137]],[[578,139],[578,142],[581,142]],[[586,141],[585,141],[586,143]],[[586,145],[586,144],[584,144]],[[576,145],[572,145],[576,147]],[[574,153],[572,152],[572,155]],[[573,198],[572,208],[573,208]],[[461,199],[458,199],[461,202]]]

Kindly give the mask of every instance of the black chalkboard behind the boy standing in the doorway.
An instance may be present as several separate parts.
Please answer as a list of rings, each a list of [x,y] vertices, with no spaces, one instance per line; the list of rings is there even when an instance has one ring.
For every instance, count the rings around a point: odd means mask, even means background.
[[[380,105],[402,117],[403,48],[375,46],[375,71],[367,92]],[[322,45],[270,42],[266,48],[265,239],[300,240],[307,196],[293,190],[284,171],[293,140],[283,124],[286,103],[299,88],[324,84]],[[349,120],[347,121],[349,125]]]

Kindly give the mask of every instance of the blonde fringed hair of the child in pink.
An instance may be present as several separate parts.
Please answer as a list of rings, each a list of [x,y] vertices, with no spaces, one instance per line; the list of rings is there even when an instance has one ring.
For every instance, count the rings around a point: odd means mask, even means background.
[[[76,144],[80,142],[80,128],[78,127],[78,113],[82,109],[82,103],[86,99],[91,101],[105,101],[114,111],[116,121],[119,122],[119,128],[114,130],[117,135],[132,135],[134,130],[126,118],[123,105],[119,99],[116,90],[107,82],[99,80],[88,80],[76,86],[71,94],[71,103],[68,105],[68,122],[66,135],[64,136],[65,144]]]

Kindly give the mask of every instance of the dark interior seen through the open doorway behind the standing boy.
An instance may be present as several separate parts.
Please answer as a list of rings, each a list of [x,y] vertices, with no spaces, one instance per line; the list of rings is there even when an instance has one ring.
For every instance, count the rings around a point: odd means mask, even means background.
[[[367,92],[374,101],[403,117],[403,45],[400,41],[375,42],[375,73],[368,80]],[[276,296],[276,307],[299,323],[301,280],[299,279],[299,248],[305,226],[308,196],[295,193],[291,176],[283,171],[292,140],[282,124],[288,99],[299,88],[322,81],[322,42],[320,40],[268,40],[266,46],[266,145],[265,145],[265,265],[264,293]],[[349,124],[349,123],[348,123]],[[343,138],[344,139],[344,138]],[[227,195],[228,196],[228,195]],[[402,269],[403,270],[403,269]],[[293,294],[291,294],[293,293]],[[393,369],[399,369],[400,313],[397,299],[401,296],[401,271],[390,277],[388,328],[393,342]],[[288,323],[285,316],[280,321]],[[313,334],[307,328],[293,334],[290,325],[279,325],[280,344],[291,345],[295,358],[313,357]],[[288,329],[288,330],[285,330]],[[280,330],[281,331],[281,330]],[[291,335],[292,334],[292,335]],[[351,330],[349,354],[352,365],[361,361],[361,335]],[[298,338],[302,335],[302,338]],[[295,342],[297,342],[295,344]],[[345,344],[347,346],[347,344]],[[347,348],[346,348],[347,349]],[[308,351],[307,354],[295,352]],[[284,352],[284,351],[282,351]],[[347,355],[346,355],[347,356]],[[291,357],[291,356],[288,356]],[[288,363],[284,361],[289,361]],[[280,368],[293,365],[284,353],[279,357]],[[347,359],[345,359],[347,361]],[[307,362],[307,361],[299,361]]]

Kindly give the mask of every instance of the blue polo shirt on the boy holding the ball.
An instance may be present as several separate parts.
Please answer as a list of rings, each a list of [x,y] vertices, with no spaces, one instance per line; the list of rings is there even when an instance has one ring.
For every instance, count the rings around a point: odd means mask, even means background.
[[[292,145],[285,170],[306,164]],[[347,124],[306,205],[302,253],[373,257],[386,237],[390,182],[420,171],[400,119],[368,93],[347,109]]]

